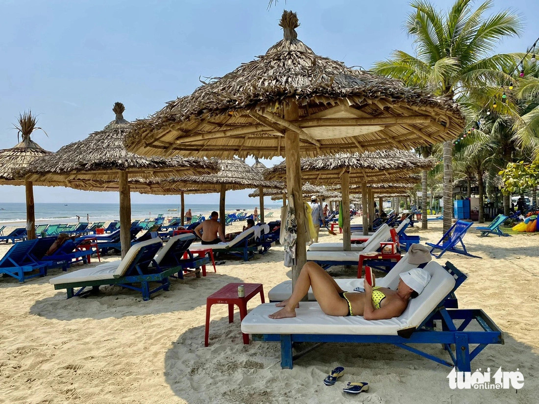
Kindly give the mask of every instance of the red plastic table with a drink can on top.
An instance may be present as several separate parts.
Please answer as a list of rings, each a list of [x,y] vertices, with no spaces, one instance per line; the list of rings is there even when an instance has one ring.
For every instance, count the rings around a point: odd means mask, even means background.
[[[238,286],[244,285],[245,297],[238,297]],[[265,303],[264,289],[261,283],[229,283],[223,288],[216,291],[214,294],[208,296],[206,299],[206,330],[204,332],[204,346],[208,346],[208,339],[210,335],[210,311],[213,304],[228,304],[229,305],[229,323],[234,322],[234,304],[239,308],[239,318],[241,320],[247,315],[247,302],[251,298],[260,293],[260,301]],[[243,343],[249,344],[249,335],[241,333],[243,335]]]

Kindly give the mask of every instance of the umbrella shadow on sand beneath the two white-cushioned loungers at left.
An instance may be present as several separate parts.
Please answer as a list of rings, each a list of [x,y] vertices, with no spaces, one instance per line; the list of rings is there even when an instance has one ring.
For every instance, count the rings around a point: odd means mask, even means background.
[[[160,290],[143,301],[140,292],[118,285],[100,287],[99,294],[66,298],[66,291],[36,301],[30,314],[70,321],[80,318],[123,318],[129,316],[158,315],[174,311],[190,311],[206,304],[206,297],[227,283],[241,282],[237,277],[209,272],[202,278],[185,281],[171,279],[170,290]],[[52,288],[52,285],[51,285]]]

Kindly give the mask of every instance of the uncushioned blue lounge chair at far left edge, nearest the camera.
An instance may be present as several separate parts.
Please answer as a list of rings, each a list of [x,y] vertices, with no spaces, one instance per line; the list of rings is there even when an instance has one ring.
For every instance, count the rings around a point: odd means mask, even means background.
[[[0,274],[16,278],[19,282],[36,276],[45,276],[49,263],[37,262],[30,251],[38,239],[21,241],[13,245],[0,260]]]

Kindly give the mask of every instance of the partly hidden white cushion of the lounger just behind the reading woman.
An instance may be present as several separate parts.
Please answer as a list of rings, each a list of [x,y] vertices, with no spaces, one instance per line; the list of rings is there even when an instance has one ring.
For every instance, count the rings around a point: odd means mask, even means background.
[[[408,262],[408,254],[406,253],[403,255],[403,257],[400,259],[399,262],[395,265],[395,267],[391,268],[391,270],[381,278],[376,278],[376,285],[381,286],[382,288],[390,288],[393,290],[397,289],[397,285],[399,283],[399,274],[402,272],[409,271],[410,269],[416,268],[416,264],[411,264]],[[340,287],[345,292],[351,292],[354,291],[354,288],[363,288],[363,281],[364,278],[358,279],[358,278],[341,278],[341,279],[335,279],[335,282],[337,282],[338,287]],[[273,288],[271,288],[268,292],[268,298],[271,301],[274,302],[282,302],[283,300],[287,299],[292,295],[292,281],[284,281],[277,285],[275,285]],[[313,289],[309,288],[309,292],[307,294],[307,299],[309,301],[315,301],[313,294]]]

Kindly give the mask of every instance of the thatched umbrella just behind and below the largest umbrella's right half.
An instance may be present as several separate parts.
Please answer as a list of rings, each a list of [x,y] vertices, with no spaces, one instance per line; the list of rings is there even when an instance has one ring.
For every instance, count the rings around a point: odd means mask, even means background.
[[[432,169],[436,160],[418,157],[410,151],[384,150],[365,152],[362,154],[337,154],[335,156],[321,156],[318,158],[302,158],[300,162],[301,176],[315,185],[341,184],[342,204],[349,206],[349,190],[351,185],[361,185],[363,196],[363,232],[368,234],[369,218],[374,219],[374,194],[369,192],[369,183],[380,183],[382,180],[390,182],[405,178],[411,174]],[[273,166],[266,170],[266,179],[287,179],[285,163]],[[370,199],[370,202],[369,202]],[[365,207],[369,206],[367,210]],[[369,214],[365,214],[369,212]],[[344,249],[350,247],[350,218],[343,216],[343,242]]]

